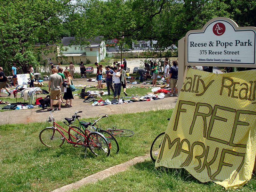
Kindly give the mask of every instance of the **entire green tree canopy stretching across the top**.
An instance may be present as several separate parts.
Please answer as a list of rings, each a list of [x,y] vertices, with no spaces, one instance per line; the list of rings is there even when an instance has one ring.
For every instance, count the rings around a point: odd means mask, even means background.
[[[33,45],[58,44],[63,36],[167,47],[214,17],[256,26],[255,0],[5,0],[0,11],[0,65],[17,62],[23,71],[40,60]]]

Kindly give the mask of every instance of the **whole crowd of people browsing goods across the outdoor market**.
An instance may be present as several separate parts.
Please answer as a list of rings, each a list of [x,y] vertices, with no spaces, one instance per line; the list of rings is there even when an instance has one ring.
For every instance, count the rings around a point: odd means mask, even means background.
[[[75,67],[72,62],[68,66],[65,67],[65,70],[60,67],[61,63],[59,62],[56,66],[53,65],[51,62],[51,71],[52,75],[49,77],[49,91],[51,92],[50,98],[51,98],[51,107],[48,110],[52,110],[52,104],[53,100],[56,98],[59,100],[59,108],[61,106],[62,99],[66,100],[66,107],[72,107],[72,99],[74,99],[72,91],[70,89],[70,85],[72,85],[72,79],[75,78],[74,72]],[[171,65],[172,64],[172,65]],[[103,78],[103,66],[99,65],[98,62],[95,62],[95,66],[97,68],[96,73],[96,79],[98,82],[97,88],[101,89],[101,82]],[[81,78],[86,77],[86,68],[84,66],[83,61],[80,62],[80,73]],[[34,87],[35,77],[34,77],[34,68],[29,65],[28,67],[28,82],[29,87]],[[16,85],[17,81],[17,69],[19,67],[16,67],[16,63],[13,63],[12,66],[12,79],[13,79],[13,85]],[[118,63],[117,61],[114,61],[112,65],[108,65],[105,67],[106,74],[105,74],[105,80],[108,90],[108,95],[110,95],[110,90],[113,92],[114,99],[117,97],[120,98],[121,89],[123,87],[124,95],[127,96],[126,93],[126,69],[127,69],[127,61],[124,58],[123,64]],[[232,72],[232,68],[226,67],[224,70],[227,70],[227,72]],[[64,70],[64,71],[63,71]],[[213,67],[209,66],[203,66],[203,70],[207,72],[212,72]],[[152,60],[148,63],[144,63],[144,68],[140,68],[138,70],[138,73],[140,74],[140,82],[147,81],[148,79],[151,79],[153,76],[152,86],[157,86],[157,76],[159,75],[159,67],[157,65],[157,62],[153,62]],[[168,60],[168,58],[165,58],[164,60],[164,78],[166,80],[166,84],[169,85],[169,88],[171,88],[171,96],[178,96],[178,89],[177,89],[177,81],[178,81],[178,61],[173,60],[172,63]],[[114,87],[113,87],[113,79],[114,79]],[[0,67],[0,89],[5,89],[8,93],[8,96],[11,95],[8,88],[6,87],[7,82],[7,76],[5,76],[3,68]],[[175,91],[175,92],[174,92]],[[62,94],[64,93],[63,97]],[[1,96],[1,95],[0,95]]]

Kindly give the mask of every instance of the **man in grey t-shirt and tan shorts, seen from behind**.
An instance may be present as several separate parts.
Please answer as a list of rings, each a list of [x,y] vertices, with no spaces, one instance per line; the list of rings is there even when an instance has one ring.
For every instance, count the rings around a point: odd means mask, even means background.
[[[49,77],[49,83],[48,83],[48,90],[51,92],[50,99],[51,99],[51,107],[47,109],[48,111],[52,110],[53,100],[58,99],[59,100],[59,108],[61,105],[61,84],[62,84],[62,77],[58,74],[58,70],[56,68],[52,69],[52,75]]]

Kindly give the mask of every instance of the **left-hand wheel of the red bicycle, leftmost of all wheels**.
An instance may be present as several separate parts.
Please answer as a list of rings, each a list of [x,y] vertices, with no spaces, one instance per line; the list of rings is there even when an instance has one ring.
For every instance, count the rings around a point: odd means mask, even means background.
[[[65,138],[54,128],[45,128],[39,134],[39,139],[46,147],[60,147]]]

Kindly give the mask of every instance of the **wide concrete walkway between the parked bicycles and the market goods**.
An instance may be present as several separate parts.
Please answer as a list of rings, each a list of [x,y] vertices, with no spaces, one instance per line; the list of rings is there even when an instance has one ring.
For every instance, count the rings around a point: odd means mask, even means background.
[[[79,115],[83,118],[96,117],[100,113],[123,114],[136,113],[157,109],[174,108],[177,97],[166,97],[161,100],[140,101],[128,104],[105,105],[92,107],[90,103],[83,103],[82,99],[74,99],[73,107],[61,108],[60,111],[55,111],[53,116],[56,121],[63,121],[65,117],[70,118],[76,111],[83,111]],[[45,122],[48,120],[50,112],[42,108],[29,110],[12,110],[0,113],[0,124],[28,124],[32,122]]]

